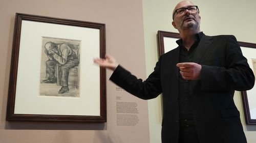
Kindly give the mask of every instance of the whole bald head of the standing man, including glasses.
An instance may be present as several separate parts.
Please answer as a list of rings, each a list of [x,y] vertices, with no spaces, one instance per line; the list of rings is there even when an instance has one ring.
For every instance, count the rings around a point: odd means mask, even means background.
[[[193,29],[200,32],[199,9],[190,1],[182,1],[177,4],[173,11],[173,26],[180,32]]]

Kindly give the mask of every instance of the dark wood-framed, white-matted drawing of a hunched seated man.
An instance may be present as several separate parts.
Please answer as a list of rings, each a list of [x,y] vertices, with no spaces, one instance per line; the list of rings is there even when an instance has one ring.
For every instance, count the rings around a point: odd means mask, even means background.
[[[106,122],[105,24],[16,13],[8,121]]]

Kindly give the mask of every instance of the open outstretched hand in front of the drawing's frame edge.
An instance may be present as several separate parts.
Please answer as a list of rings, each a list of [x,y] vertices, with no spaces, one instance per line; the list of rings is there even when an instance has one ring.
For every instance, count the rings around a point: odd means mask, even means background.
[[[105,67],[110,70],[115,70],[119,65],[113,56],[106,54],[105,59],[96,58],[93,60],[95,64],[98,64],[100,67]]]

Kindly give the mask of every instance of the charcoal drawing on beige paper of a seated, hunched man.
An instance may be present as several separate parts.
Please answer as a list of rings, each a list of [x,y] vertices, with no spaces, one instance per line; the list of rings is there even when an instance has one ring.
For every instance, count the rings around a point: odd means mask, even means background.
[[[80,44],[42,37],[40,96],[79,97]]]

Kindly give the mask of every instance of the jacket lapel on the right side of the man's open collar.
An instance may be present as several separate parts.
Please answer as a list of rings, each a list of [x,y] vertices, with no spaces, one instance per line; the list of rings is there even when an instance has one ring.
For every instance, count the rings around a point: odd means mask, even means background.
[[[204,53],[208,50],[210,44],[212,43],[212,38],[210,36],[204,35],[202,39],[200,40],[197,51],[195,53],[195,57],[193,59],[194,63],[199,63],[202,59],[202,56]]]

